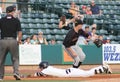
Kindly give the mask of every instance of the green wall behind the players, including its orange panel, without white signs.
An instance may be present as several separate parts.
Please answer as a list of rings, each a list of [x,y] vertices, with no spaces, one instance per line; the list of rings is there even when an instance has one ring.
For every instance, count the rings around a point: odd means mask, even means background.
[[[83,64],[101,64],[102,63],[102,47],[97,48],[95,45],[80,46],[86,58]],[[66,55],[62,45],[42,45],[41,61],[48,61],[50,64],[72,64],[73,60]],[[12,65],[11,56],[8,53],[5,65]]]

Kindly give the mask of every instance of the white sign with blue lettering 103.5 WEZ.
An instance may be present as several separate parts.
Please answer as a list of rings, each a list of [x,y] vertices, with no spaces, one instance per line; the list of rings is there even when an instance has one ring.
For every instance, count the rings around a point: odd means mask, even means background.
[[[120,44],[103,45],[103,62],[120,63]]]

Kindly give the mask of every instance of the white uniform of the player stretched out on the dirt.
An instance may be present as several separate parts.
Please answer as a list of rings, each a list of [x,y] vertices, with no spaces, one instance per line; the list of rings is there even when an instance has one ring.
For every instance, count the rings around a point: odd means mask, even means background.
[[[56,76],[56,77],[89,77],[95,75],[95,70],[98,73],[100,73],[99,70],[104,72],[102,66],[95,67],[86,71],[78,68],[60,69],[60,68],[55,68],[53,66],[48,66],[46,69],[42,70],[41,72],[45,75]]]

